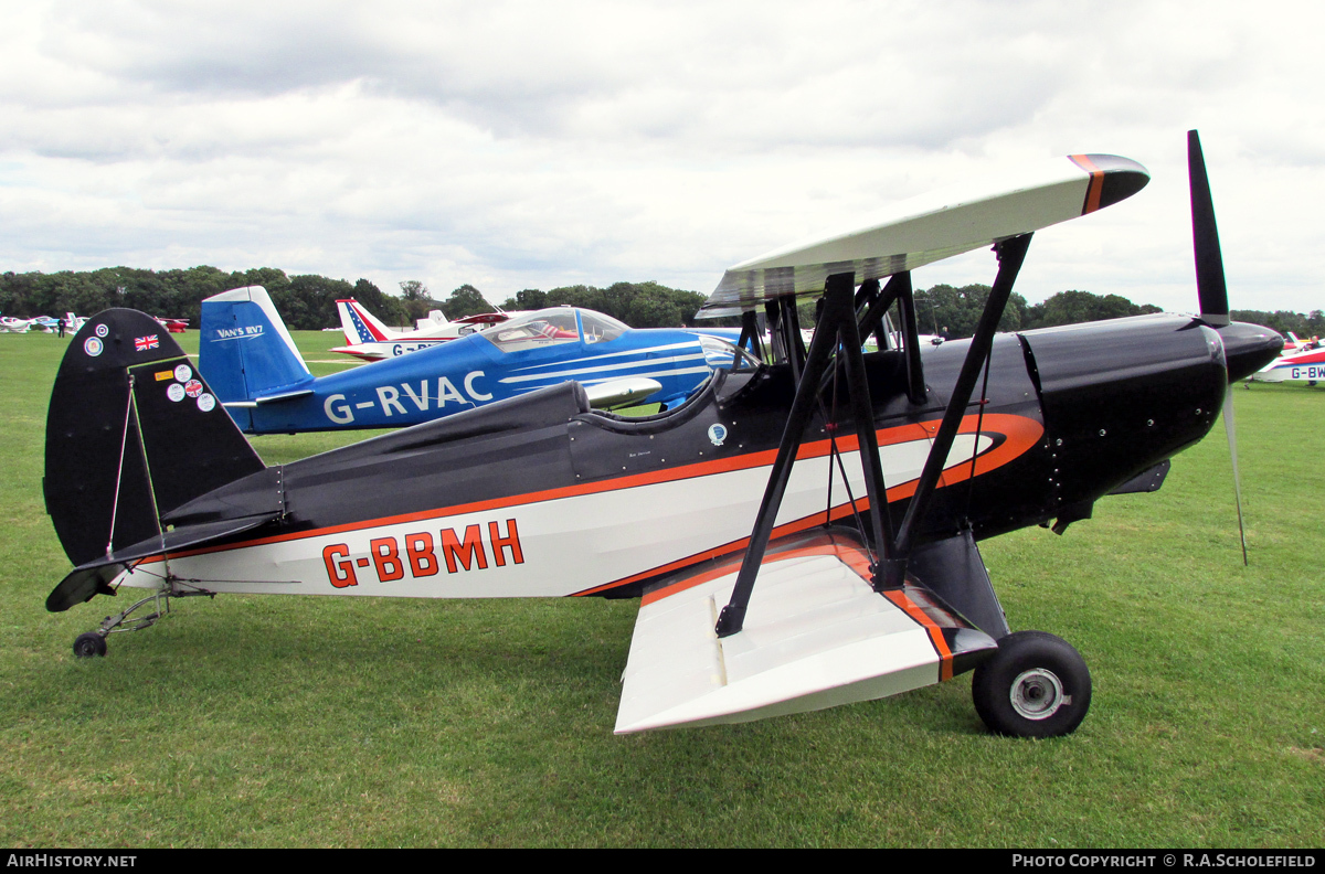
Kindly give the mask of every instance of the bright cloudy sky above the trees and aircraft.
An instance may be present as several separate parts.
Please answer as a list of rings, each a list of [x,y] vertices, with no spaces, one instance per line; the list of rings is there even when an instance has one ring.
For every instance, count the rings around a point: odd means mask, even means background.
[[[5,3],[0,270],[709,293],[893,200],[1113,152],[1150,185],[1036,234],[1018,290],[1190,310],[1196,127],[1232,306],[1325,309],[1321,8]],[[992,271],[973,253],[916,283]]]

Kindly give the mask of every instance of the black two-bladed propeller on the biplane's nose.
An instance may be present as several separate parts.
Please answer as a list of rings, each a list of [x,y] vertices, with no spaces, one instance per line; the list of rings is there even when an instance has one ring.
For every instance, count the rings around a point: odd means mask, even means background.
[[[1210,196],[1210,176],[1200,151],[1200,136],[1187,131],[1187,177],[1191,184],[1191,246],[1196,257],[1196,299],[1200,319],[1219,330],[1228,326],[1228,285],[1224,282],[1224,258],[1219,250],[1215,226],[1215,204]],[[1226,352],[1227,355],[1227,352]],[[1247,565],[1247,530],[1242,515],[1242,481],[1238,475],[1238,433],[1234,422],[1234,380],[1224,392],[1224,432],[1234,466],[1234,501],[1238,505],[1238,536],[1242,540],[1243,565]]]

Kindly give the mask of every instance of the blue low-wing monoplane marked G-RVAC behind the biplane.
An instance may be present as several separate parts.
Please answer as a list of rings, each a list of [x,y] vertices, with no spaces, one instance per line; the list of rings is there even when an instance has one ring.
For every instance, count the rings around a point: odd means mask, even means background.
[[[733,347],[717,338],[734,340],[739,331],[640,330],[592,310],[555,307],[314,377],[266,290],[250,286],[204,301],[201,334],[199,368],[216,399],[242,430],[265,434],[415,425],[567,380],[591,395],[600,389],[599,405],[666,407],[730,364]]]

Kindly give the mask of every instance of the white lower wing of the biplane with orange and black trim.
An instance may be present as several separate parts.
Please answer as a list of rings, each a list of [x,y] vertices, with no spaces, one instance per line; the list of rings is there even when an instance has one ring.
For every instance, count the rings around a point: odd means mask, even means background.
[[[884,698],[947,679],[998,648],[918,587],[881,595],[853,536],[770,548],[742,632],[718,612],[739,558],[644,596],[616,732],[749,722]]]

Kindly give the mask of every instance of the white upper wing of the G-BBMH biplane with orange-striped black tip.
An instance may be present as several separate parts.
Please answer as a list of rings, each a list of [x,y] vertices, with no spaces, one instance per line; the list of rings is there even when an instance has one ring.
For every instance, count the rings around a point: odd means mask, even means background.
[[[1145,167],[1117,155],[1071,155],[986,185],[945,189],[901,201],[849,230],[802,241],[730,267],[702,318],[737,315],[759,302],[822,294],[829,275],[855,282],[951,258],[1084,216],[1141,191]]]

